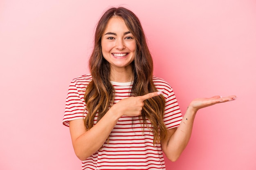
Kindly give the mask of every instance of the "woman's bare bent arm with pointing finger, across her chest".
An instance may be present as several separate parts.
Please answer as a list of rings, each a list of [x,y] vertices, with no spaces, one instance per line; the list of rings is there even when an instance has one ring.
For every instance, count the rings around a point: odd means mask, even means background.
[[[76,156],[85,160],[104,144],[111,131],[122,116],[141,114],[144,100],[160,95],[161,92],[148,93],[144,96],[128,97],[114,104],[108,112],[90,130],[85,130],[83,119],[70,121],[70,135]]]

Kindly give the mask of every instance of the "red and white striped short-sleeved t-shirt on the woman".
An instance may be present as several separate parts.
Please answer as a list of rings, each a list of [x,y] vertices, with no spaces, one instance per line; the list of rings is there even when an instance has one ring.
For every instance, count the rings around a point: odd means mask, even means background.
[[[90,74],[73,79],[69,86],[63,124],[83,119],[87,115],[84,91],[92,80]],[[171,86],[163,79],[153,77],[158,91],[166,99],[164,123],[167,129],[180,125],[182,114]],[[115,88],[115,103],[130,97],[131,82],[111,82]],[[94,118],[94,124],[97,117]],[[149,121],[148,121],[149,122]],[[149,126],[150,128],[150,126]],[[93,155],[82,161],[82,170],[165,170],[160,143],[153,145],[152,132],[141,127],[139,117],[123,116],[119,119],[106,141]]]

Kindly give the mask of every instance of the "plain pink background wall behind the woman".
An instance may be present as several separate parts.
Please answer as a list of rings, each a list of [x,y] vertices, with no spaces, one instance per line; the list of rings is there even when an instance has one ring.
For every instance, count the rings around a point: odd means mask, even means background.
[[[183,114],[195,97],[238,96],[198,112],[167,169],[255,170],[255,0],[1,0],[0,169],[81,169],[61,123],[67,88],[88,73],[99,17],[119,4],[140,18]]]

